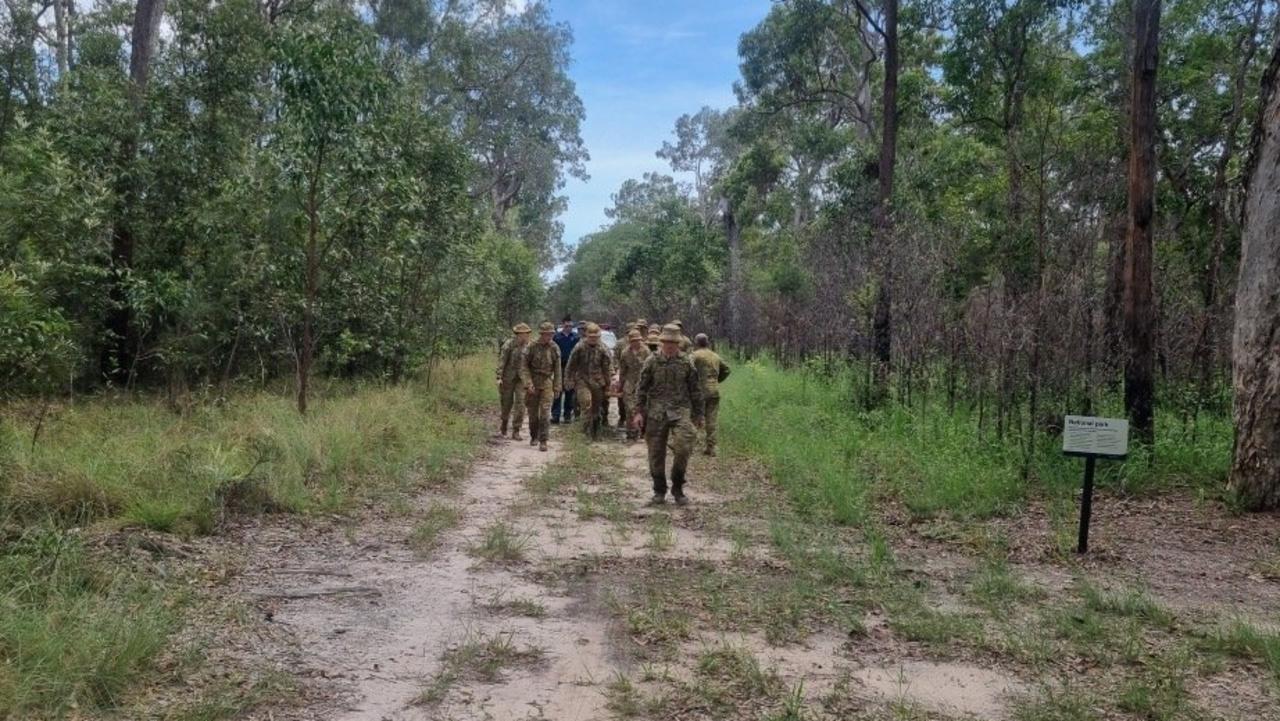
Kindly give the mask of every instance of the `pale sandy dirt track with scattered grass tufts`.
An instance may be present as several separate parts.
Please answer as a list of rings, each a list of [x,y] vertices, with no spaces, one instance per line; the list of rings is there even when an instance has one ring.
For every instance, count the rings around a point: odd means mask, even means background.
[[[571,488],[538,496],[531,485],[566,452],[562,434],[576,432],[557,428],[547,453],[527,442],[494,439],[456,493],[426,494],[415,512],[355,525],[264,525],[246,534],[252,544],[238,590],[255,598],[278,630],[255,656],[273,658],[302,680],[296,698],[268,703],[252,717],[609,718],[609,685],[653,675],[645,649],[609,611],[611,583],[620,574],[719,567],[731,558],[777,563],[767,544],[717,533],[735,501],[730,496],[692,484],[689,508],[645,506],[640,443],[596,446],[596,457],[603,450],[616,461],[603,473],[616,478],[618,501],[609,512],[585,508],[604,494],[584,494],[581,485],[577,496]],[[406,539],[421,511],[439,502],[456,506],[461,523],[424,557]],[[522,539],[521,558],[479,557],[476,548],[495,524]],[[872,634],[877,625],[869,620]],[[663,677],[641,679],[640,689],[666,693],[663,681],[692,677],[694,660],[714,648],[744,649],[772,677],[803,689],[806,701],[851,679],[852,693],[872,703],[909,698],[946,717],[1000,718],[1005,699],[1019,688],[1010,676],[974,666],[856,658],[846,642],[836,629],[773,644],[755,630],[726,633],[695,624],[680,653],[663,662]],[[481,672],[460,663],[477,648],[497,648],[506,660]]]

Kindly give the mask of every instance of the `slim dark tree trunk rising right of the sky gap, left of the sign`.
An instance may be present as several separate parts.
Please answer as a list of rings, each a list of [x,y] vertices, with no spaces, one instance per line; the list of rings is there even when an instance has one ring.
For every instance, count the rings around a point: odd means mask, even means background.
[[[893,348],[893,164],[897,160],[897,0],[884,3],[884,127],[881,128],[879,192],[876,202],[876,248],[881,254],[873,338],[876,384],[883,398]]]

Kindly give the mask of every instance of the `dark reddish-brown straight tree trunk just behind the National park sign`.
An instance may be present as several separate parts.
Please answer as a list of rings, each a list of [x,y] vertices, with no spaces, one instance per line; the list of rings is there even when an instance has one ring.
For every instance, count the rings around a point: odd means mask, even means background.
[[[1160,61],[1160,0],[1133,8],[1133,93],[1129,105],[1129,237],[1125,246],[1125,412],[1134,434],[1155,442],[1156,310],[1152,231],[1156,186],[1156,68]]]

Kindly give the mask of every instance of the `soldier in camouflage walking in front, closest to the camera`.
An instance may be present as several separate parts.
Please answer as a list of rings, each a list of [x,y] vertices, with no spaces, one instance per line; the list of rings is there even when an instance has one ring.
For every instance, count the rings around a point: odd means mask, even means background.
[[[649,475],[653,478],[653,503],[667,499],[667,444],[675,458],[671,464],[671,494],[677,506],[685,498],[685,469],[698,439],[695,428],[703,425],[703,389],[698,370],[689,356],[680,352],[680,328],[662,328],[662,350],[650,356],[640,370],[636,389],[636,416],[644,424],[649,446]]]

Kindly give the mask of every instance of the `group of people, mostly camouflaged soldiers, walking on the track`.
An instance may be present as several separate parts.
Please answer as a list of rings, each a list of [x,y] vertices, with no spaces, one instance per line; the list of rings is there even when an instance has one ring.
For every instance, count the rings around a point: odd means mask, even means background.
[[[690,341],[680,320],[659,329],[637,319],[611,351],[599,325],[588,323],[579,336],[568,318],[558,333],[549,321],[539,325],[536,341],[524,323],[512,333],[498,353],[500,435],[509,429],[513,441],[524,441],[527,412],[529,444],[547,451],[549,426],[577,414],[584,433],[596,441],[607,434],[609,398],[616,397],[618,426],[627,439],[643,435],[648,446],[652,502],[664,503],[669,489],[677,505],[687,503],[685,476],[698,429],[705,432],[704,452],[714,456],[719,384],[730,374],[705,334]]]

